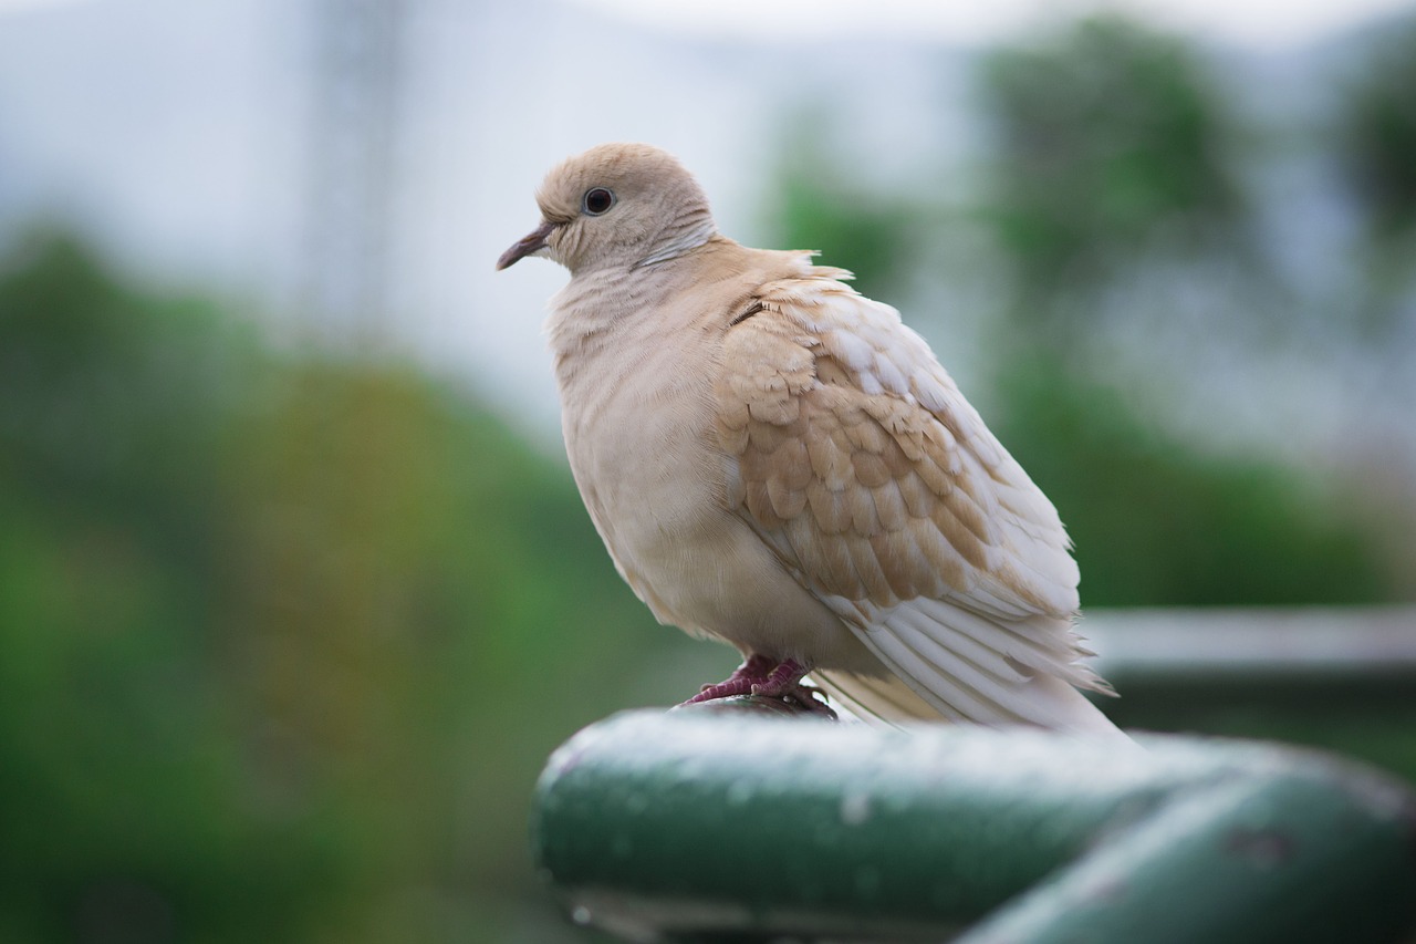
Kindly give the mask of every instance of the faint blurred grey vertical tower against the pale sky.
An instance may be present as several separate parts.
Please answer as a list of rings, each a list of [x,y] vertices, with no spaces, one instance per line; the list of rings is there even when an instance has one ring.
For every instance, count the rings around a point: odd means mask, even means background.
[[[384,340],[405,0],[312,0],[302,315],[314,340]]]

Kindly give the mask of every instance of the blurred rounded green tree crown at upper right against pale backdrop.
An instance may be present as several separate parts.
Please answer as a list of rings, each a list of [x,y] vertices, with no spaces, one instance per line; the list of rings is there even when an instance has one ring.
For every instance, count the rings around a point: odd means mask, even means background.
[[[988,54],[994,129],[987,215],[1015,269],[1012,315],[1069,347],[1096,310],[1068,303],[1148,252],[1181,255],[1232,235],[1240,190],[1209,75],[1180,41],[1116,16]]]

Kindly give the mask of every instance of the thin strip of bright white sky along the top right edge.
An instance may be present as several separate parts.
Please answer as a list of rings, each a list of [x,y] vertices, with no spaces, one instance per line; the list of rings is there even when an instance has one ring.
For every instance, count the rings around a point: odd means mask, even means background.
[[[0,0],[3,3],[4,0]],[[35,1],[35,0],[27,0]],[[801,41],[871,34],[957,44],[997,40],[1037,23],[1123,10],[1221,41],[1296,45],[1413,0],[573,0],[695,35]]]

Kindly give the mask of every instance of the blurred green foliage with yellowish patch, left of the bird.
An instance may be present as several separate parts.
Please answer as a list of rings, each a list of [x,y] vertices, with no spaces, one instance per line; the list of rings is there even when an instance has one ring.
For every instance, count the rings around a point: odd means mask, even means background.
[[[479,940],[663,631],[466,395],[236,325],[0,278],[0,940]]]

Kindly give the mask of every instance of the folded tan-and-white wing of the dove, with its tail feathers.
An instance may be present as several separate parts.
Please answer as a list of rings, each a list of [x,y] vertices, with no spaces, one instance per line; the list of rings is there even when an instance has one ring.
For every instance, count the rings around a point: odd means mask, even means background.
[[[1109,690],[1052,503],[895,309],[816,274],[733,320],[715,394],[729,506],[913,697],[817,676],[885,717],[1114,731],[1073,687]]]

